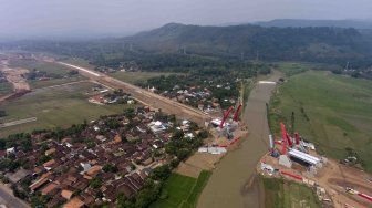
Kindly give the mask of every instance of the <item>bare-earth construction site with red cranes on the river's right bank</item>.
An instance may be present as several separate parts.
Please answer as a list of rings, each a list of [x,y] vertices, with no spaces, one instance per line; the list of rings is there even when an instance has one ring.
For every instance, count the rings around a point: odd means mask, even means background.
[[[299,133],[290,135],[280,123],[281,136],[268,135],[269,152],[261,157],[257,171],[264,177],[283,178],[304,184],[317,193],[327,207],[370,207],[371,176],[317,153],[316,146]],[[352,158],[349,158],[352,159]]]

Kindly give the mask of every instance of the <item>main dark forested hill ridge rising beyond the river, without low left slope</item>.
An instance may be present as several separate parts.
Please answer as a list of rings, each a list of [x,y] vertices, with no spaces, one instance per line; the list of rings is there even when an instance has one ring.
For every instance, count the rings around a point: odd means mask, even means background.
[[[262,28],[258,25],[198,27],[169,23],[121,39],[134,48],[155,53],[186,53],[262,60],[319,62],[365,61],[371,54],[355,29]]]

